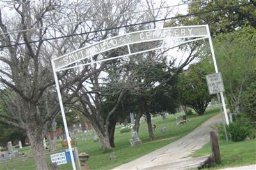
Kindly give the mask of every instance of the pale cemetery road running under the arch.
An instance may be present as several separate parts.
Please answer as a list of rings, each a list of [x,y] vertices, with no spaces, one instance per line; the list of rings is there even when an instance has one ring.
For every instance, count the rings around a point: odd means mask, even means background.
[[[143,157],[137,158],[127,164],[115,167],[115,170],[125,169],[173,169],[174,162],[186,164],[191,161],[189,155],[195,150],[200,149],[205,143],[210,140],[209,132],[212,126],[221,122],[221,115],[218,114],[211,119],[205,121],[200,127],[196,128],[190,134],[182,137],[178,141],[170,143],[163,148],[148,153]],[[177,164],[175,164],[175,167]]]

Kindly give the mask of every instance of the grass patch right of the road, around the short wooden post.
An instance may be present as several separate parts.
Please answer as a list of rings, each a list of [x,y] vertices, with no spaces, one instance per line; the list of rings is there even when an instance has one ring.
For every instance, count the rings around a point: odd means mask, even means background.
[[[226,141],[219,141],[221,164],[211,169],[221,169],[223,167],[247,166],[256,164],[256,140],[242,141],[236,143],[226,143]],[[200,157],[203,155],[211,155],[210,143],[205,144],[203,148],[197,150],[193,157]]]

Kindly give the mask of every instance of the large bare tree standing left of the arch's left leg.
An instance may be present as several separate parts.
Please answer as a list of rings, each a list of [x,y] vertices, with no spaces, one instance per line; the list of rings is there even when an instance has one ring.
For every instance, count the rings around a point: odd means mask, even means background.
[[[71,15],[73,9],[77,9],[76,15]],[[51,59],[65,54],[77,45],[72,43],[73,38],[52,42],[46,42],[44,39],[67,36],[76,33],[78,29],[83,31],[79,27],[81,22],[68,26],[53,27],[53,25],[60,24],[61,19],[66,19],[66,22],[67,19],[72,21],[87,19],[86,17],[91,17],[88,15],[90,10],[90,5],[83,1],[76,3],[67,1],[61,4],[60,1],[54,0],[36,2],[24,0],[12,6],[11,16],[3,15],[0,11],[0,42],[1,45],[6,46],[0,54],[0,80],[1,88],[4,88],[1,90],[0,98],[8,111],[8,113],[0,112],[0,123],[26,131],[34,153],[36,169],[48,169],[43,139],[52,120],[59,112],[56,90],[53,86]],[[12,33],[13,30],[18,31]],[[93,37],[79,38],[79,45],[83,45]],[[16,43],[23,45],[15,45]],[[68,72],[61,72],[58,77],[61,79],[67,74]],[[67,84],[61,84],[61,91],[67,90],[72,82],[83,80],[79,78],[72,77]]]

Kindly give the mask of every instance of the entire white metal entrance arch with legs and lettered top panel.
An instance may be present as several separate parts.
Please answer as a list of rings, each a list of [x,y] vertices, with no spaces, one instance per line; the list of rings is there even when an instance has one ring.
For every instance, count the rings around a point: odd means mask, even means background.
[[[177,39],[177,38],[193,38],[193,39],[186,40],[184,42],[174,43],[172,45],[162,45],[161,47],[156,47],[156,48],[147,49],[147,50],[141,50],[138,52],[131,52],[131,49],[130,49],[130,45],[132,45],[134,43],[153,42],[153,41],[170,40],[170,39]],[[206,38],[209,39],[209,44],[211,47],[211,54],[212,54],[212,60],[214,63],[215,72],[218,73],[218,66],[216,64],[211,34],[209,31],[208,25],[164,27],[161,29],[147,29],[147,30],[142,30],[142,31],[136,31],[136,32],[132,32],[132,33],[127,33],[125,35],[114,36],[112,38],[102,40],[101,42],[93,43],[92,45],[83,47],[81,49],[74,50],[73,52],[70,52],[70,53],[60,56],[58,58],[52,59],[52,61],[51,61],[52,62],[52,70],[54,73],[54,80],[56,82],[56,88],[57,88],[58,98],[59,98],[59,102],[60,102],[61,114],[62,114],[65,132],[66,132],[66,136],[67,136],[68,149],[70,151],[70,157],[72,160],[73,169],[74,170],[76,169],[76,164],[74,162],[74,157],[72,154],[72,147],[70,144],[71,139],[68,134],[67,121],[66,121],[66,117],[65,117],[64,107],[63,107],[61,93],[60,93],[60,85],[58,82],[58,77],[57,77],[56,72],[68,70],[71,68],[76,68],[79,66],[91,65],[93,63],[100,63],[102,61],[108,61],[108,60],[112,60],[112,59],[132,56],[135,54],[141,54],[143,52],[148,52],[148,51],[157,50],[157,49],[163,49],[166,47],[169,47],[169,48],[177,47],[184,43],[195,42],[197,40],[204,40]],[[95,56],[97,54],[106,52],[108,50],[116,49],[118,47],[125,47],[125,46],[127,46],[127,49],[129,52],[128,54],[125,54],[122,56],[116,56],[116,57],[112,57],[112,58],[100,58],[97,60],[93,60],[93,56]],[[84,63],[74,65],[74,63],[77,63],[82,60],[84,61]],[[225,106],[224,96],[223,96],[222,92],[220,93],[220,95],[221,95],[222,106],[223,106],[223,110],[224,110],[224,114],[225,114],[225,120],[228,125],[229,122],[228,122],[227,109]]]

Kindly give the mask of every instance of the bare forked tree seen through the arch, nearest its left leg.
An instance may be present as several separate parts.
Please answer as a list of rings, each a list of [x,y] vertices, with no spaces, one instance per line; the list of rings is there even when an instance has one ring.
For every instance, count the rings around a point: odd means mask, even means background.
[[[92,8],[97,9],[97,13],[94,15],[95,18],[103,17],[102,20],[93,20],[93,26],[97,27],[98,30],[107,29],[107,31],[100,31],[95,34],[94,41],[100,41],[109,38],[109,36],[118,35],[120,29],[108,30],[109,27],[124,26],[124,24],[127,24],[127,22],[131,21],[131,15],[122,14],[134,10],[136,8],[136,1],[94,1]],[[121,53],[122,49],[116,49],[104,54],[93,56],[93,59],[96,61],[97,58],[109,58]],[[111,149],[109,132],[113,132],[113,130],[109,130],[112,125],[110,125],[110,118],[113,112],[115,112],[116,107],[118,107],[118,104],[125,90],[125,76],[116,77],[115,85],[113,85],[113,82],[104,79],[108,75],[108,70],[112,67],[113,65],[111,65],[111,62],[103,62],[75,69],[73,72],[74,74],[72,75],[74,77],[81,75],[81,72],[83,71],[86,72],[85,74],[83,73],[83,75],[91,76],[84,76],[83,81],[79,81],[76,84],[70,86],[70,91],[72,91],[72,95],[74,95],[76,98],[74,98],[71,103],[66,104],[68,107],[72,107],[78,111],[81,111],[84,116],[90,120],[93,128],[99,135],[99,138],[102,142],[102,148],[104,150]],[[66,81],[67,79],[68,77],[66,77],[66,79],[63,81]],[[115,86],[116,91],[104,90],[109,88],[109,86],[111,86],[112,89],[113,86]],[[70,91],[66,91],[67,97],[69,96],[68,94],[70,94]],[[113,108],[111,108],[109,112],[102,112],[100,107],[102,100],[104,100],[106,95],[115,96],[116,101],[114,102],[115,104],[113,104]],[[113,123],[113,125],[114,124],[115,123]]]

